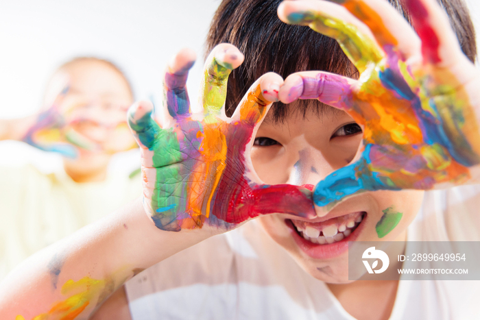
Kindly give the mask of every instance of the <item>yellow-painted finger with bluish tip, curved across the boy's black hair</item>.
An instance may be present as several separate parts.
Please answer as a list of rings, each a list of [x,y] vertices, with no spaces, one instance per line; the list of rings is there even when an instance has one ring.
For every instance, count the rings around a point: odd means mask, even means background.
[[[384,56],[370,29],[335,3],[283,1],[278,6],[278,17],[285,23],[308,25],[316,32],[335,38],[360,73],[370,62],[379,62]]]

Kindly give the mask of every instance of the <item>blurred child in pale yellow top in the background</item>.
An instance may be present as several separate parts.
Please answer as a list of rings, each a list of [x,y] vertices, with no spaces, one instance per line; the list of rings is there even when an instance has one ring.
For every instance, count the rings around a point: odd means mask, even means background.
[[[125,121],[133,95],[114,64],[76,58],[53,74],[40,114],[0,121],[0,140],[63,156],[63,169],[0,168],[0,279],[34,252],[141,195],[139,176],[107,175],[113,154],[135,147]]]

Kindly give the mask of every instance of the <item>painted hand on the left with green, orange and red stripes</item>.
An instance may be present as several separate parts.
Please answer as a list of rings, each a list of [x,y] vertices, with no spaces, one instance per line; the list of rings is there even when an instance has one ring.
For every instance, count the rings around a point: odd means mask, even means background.
[[[263,75],[228,118],[227,79],[243,55],[232,45],[218,45],[205,65],[203,110],[192,113],[185,84],[194,62],[195,53],[184,49],[169,64],[161,121],[152,119],[147,102],[128,114],[142,151],[143,206],[155,225],[168,231],[208,225],[221,232],[259,214],[315,217],[310,190],[262,184],[250,160],[252,137],[283,79]]]

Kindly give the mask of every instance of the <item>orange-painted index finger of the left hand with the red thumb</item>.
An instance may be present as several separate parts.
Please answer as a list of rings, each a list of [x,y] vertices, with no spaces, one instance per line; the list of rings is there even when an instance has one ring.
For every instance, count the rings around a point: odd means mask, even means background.
[[[259,125],[267,115],[274,101],[278,101],[278,91],[283,85],[280,75],[269,72],[262,75],[250,86],[232,114],[231,121],[241,121],[250,125]]]

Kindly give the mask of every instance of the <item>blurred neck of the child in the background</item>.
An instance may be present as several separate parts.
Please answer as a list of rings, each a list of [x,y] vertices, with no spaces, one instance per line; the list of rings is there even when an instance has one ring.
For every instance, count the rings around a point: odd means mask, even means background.
[[[110,156],[94,155],[63,160],[63,168],[67,175],[77,183],[102,182],[107,176]]]

